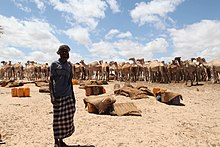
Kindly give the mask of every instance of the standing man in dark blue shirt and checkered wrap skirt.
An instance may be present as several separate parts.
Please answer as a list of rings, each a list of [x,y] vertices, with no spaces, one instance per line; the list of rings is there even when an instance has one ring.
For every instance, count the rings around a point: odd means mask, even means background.
[[[54,147],[67,146],[63,139],[75,131],[75,96],[72,86],[72,65],[69,59],[70,48],[61,45],[57,51],[60,58],[50,66],[50,96],[53,104]]]

